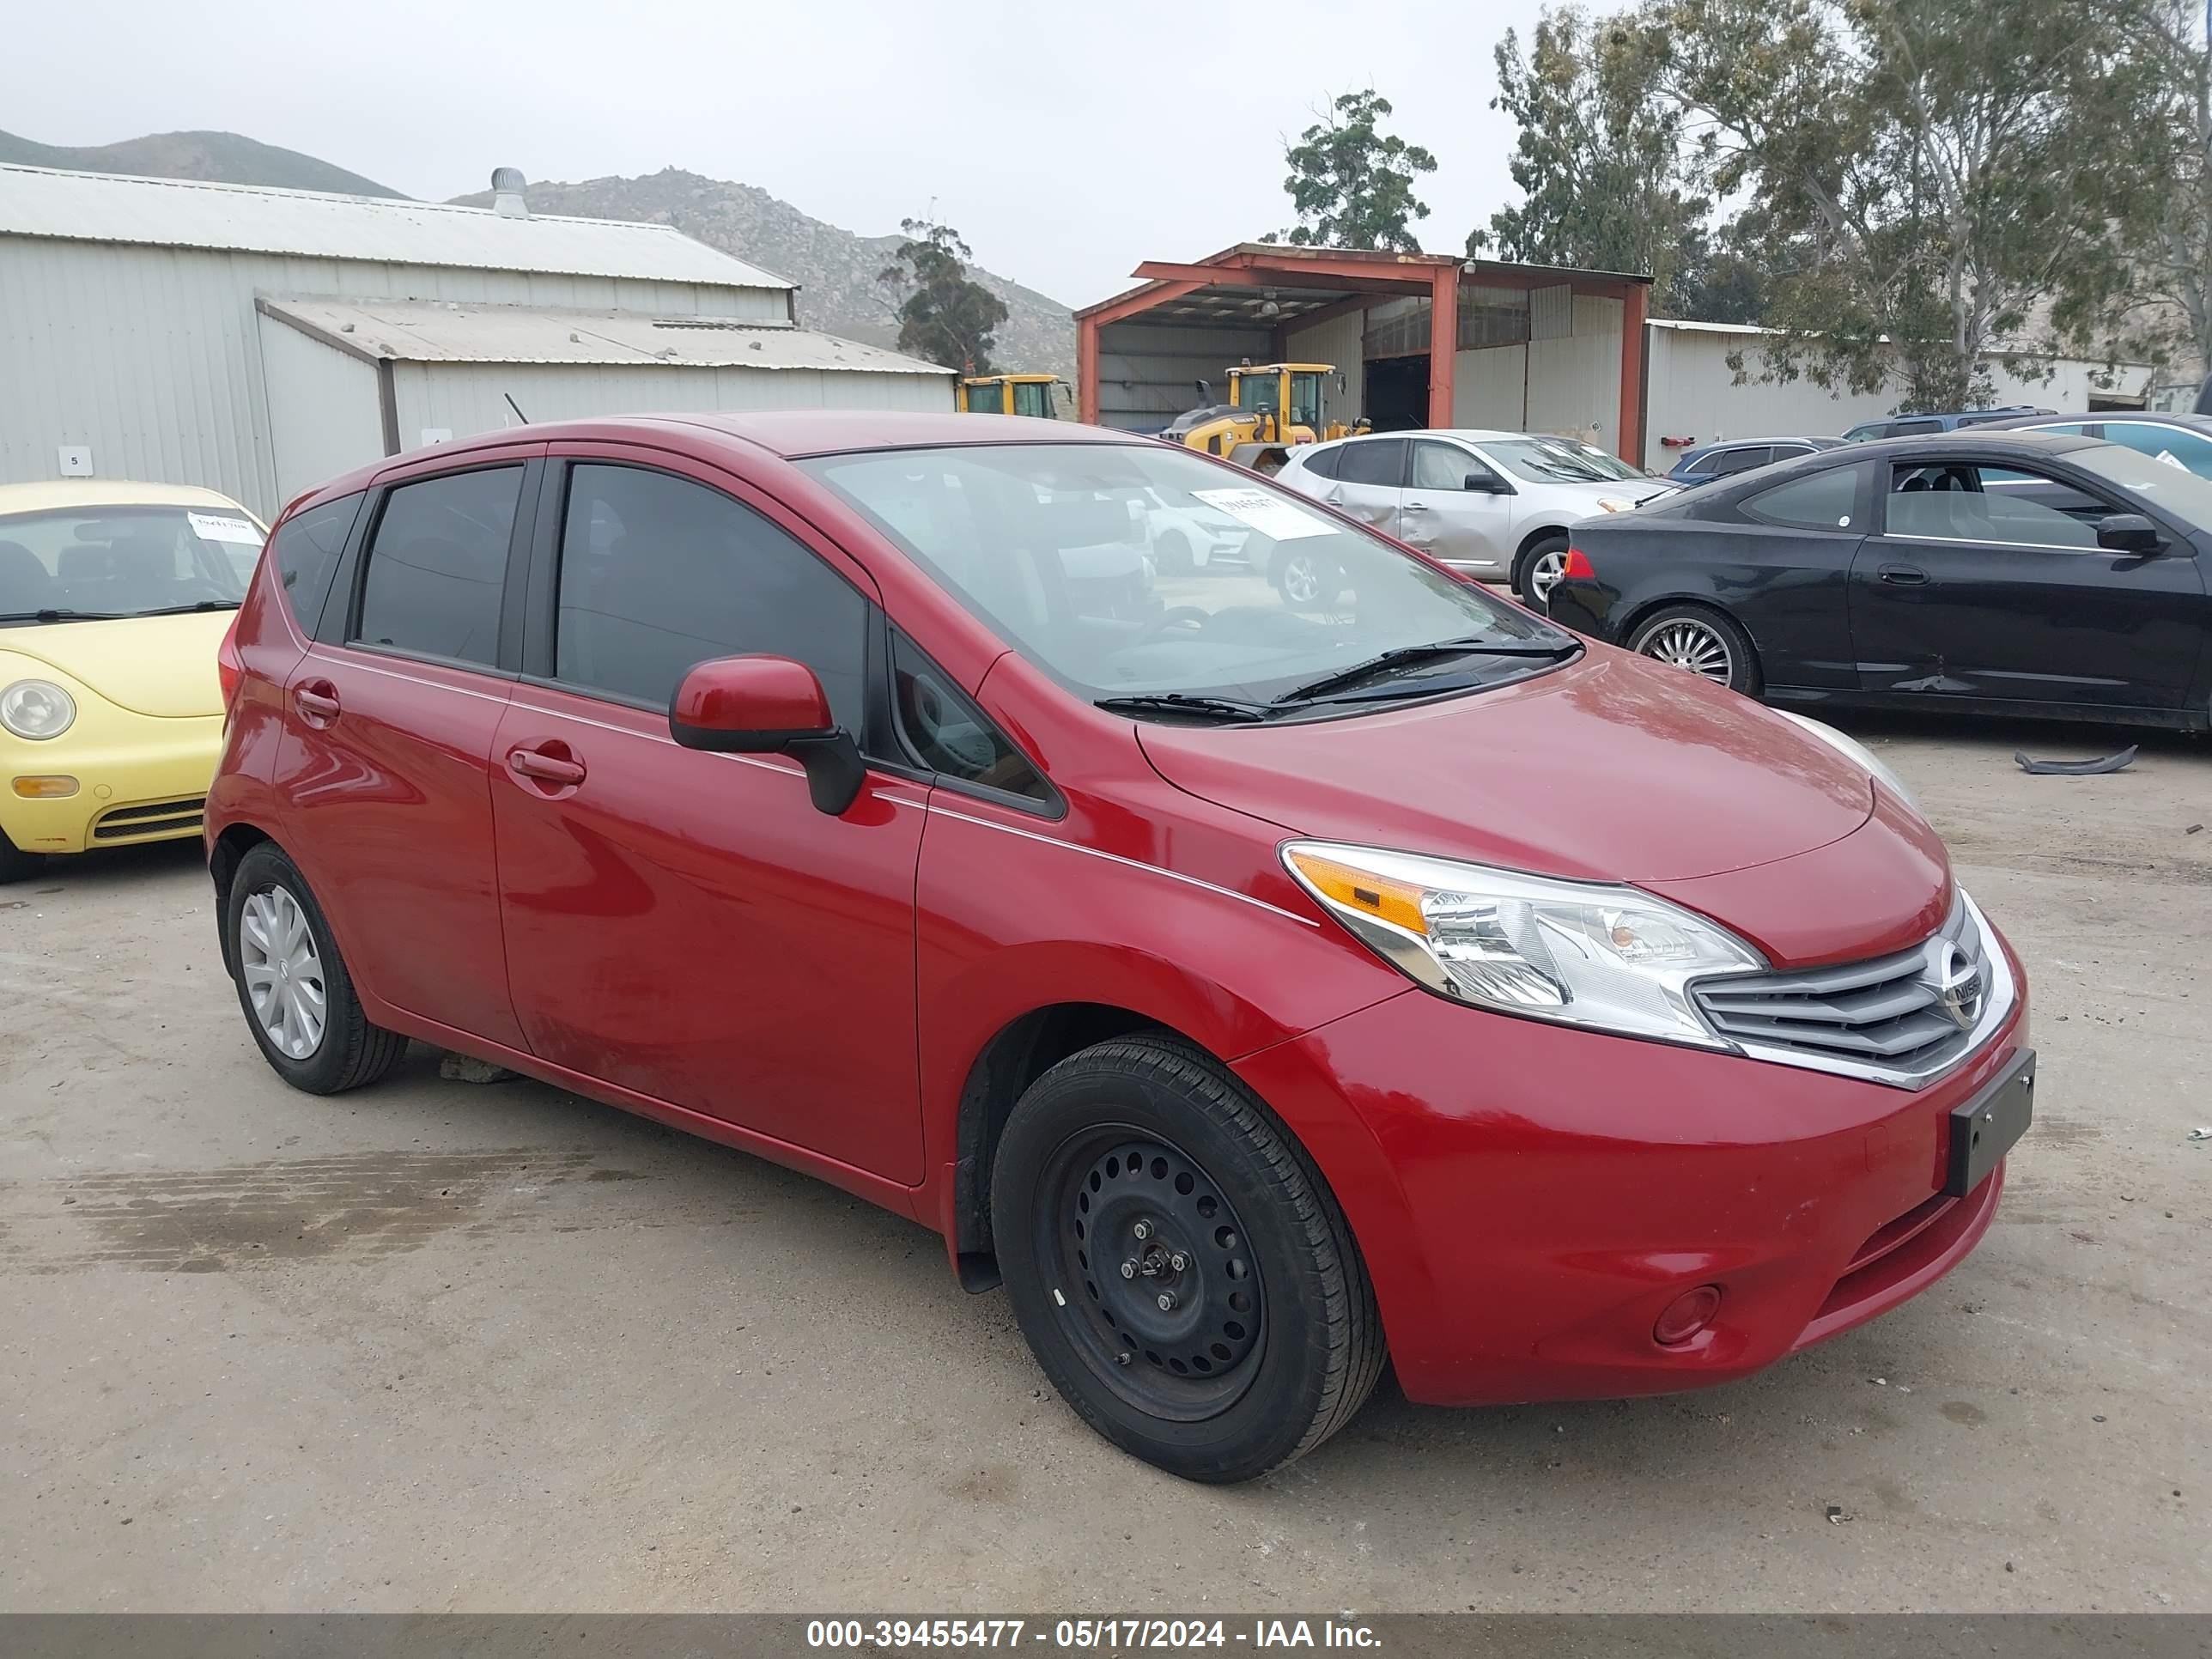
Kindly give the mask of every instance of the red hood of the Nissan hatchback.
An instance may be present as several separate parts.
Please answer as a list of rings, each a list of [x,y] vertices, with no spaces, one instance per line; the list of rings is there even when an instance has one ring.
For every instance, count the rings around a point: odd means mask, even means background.
[[[1294,726],[1139,726],[1179,790],[1301,836],[1575,880],[1794,858],[1874,814],[1829,745],[1679,668],[1593,646],[1500,690]]]

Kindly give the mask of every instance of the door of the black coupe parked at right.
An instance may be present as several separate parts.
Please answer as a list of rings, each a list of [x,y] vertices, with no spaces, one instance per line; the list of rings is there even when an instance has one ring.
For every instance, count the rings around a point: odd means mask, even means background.
[[[2086,480],[1927,451],[1887,465],[1880,531],[1851,564],[1851,648],[1867,690],[2062,708],[2181,708],[2197,666],[2185,544],[2097,546],[2137,511]]]

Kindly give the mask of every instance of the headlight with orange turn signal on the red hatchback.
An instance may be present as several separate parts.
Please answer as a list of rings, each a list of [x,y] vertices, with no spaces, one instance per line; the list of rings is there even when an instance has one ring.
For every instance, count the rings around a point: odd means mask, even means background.
[[[1292,841],[1283,863],[1385,962],[1498,1013],[1734,1048],[1697,1015],[1690,980],[1765,967],[1734,933],[1635,887],[1325,841]]]

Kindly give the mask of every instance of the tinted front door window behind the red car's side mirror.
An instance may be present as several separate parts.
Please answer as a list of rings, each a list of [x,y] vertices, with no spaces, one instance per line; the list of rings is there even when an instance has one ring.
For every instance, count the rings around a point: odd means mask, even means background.
[[[553,675],[668,708],[684,672],[750,650],[816,672],[863,730],[867,599],[721,491],[641,467],[575,467],[562,524]]]

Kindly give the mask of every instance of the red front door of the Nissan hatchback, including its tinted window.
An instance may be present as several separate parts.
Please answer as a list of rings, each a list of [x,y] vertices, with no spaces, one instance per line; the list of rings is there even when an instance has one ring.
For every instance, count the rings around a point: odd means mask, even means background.
[[[770,498],[664,451],[557,447],[540,520],[524,677],[493,754],[531,1051],[920,1181],[927,790],[869,772],[832,818],[796,761],[686,750],[668,732],[684,670],[741,653],[807,664],[838,723],[865,732],[874,584]]]

